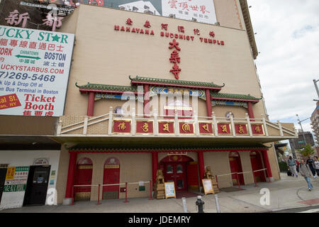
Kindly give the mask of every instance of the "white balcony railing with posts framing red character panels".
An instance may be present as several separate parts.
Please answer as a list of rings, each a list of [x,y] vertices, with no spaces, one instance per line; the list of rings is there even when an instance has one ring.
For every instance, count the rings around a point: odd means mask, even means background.
[[[157,111],[155,110],[155,113]],[[130,131],[125,132],[129,135],[136,135],[137,133],[137,122],[138,121],[152,121],[153,131],[152,133],[144,133],[147,136],[158,136],[159,135],[159,122],[167,121],[172,122],[174,124],[174,135],[176,136],[213,136],[213,137],[279,137],[279,138],[296,138],[298,137],[298,133],[295,128],[293,130],[286,128],[281,125],[279,121],[276,123],[267,121],[263,116],[262,118],[250,118],[248,114],[245,115],[245,118],[224,118],[224,117],[216,117],[215,113],[212,112],[212,116],[197,116],[194,112],[194,116],[178,116],[177,111],[174,111],[174,115],[157,115],[157,114],[135,114],[135,109],[133,109],[133,114],[113,114],[113,109],[110,108],[108,114],[104,114],[96,117],[88,117],[84,116],[83,121],[79,121],[77,123],[72,123],[67,126],[62,126],[62,118],[57,126],[57,135],[69,135],[72,131],[76,131],[78,129],[83,130],[82,133],[74,133],[74,134],[82,134],[87,135],[87,130],[89,126],[93,126],[94,124],[101,123],[103,121],[108,122],[108,133],[106,135],[115,135],[116,133],[113,131],[113,122],[114,121],[130,121]],[[179,131],[179,124],[190,124],[193,125],[193,131],[191,133],[181,133]],[[201,133],[200,132],[200,123],[208,123],[211,124],[211,132],[210,133]],[[218,126],[220,125],[228,125],[228,133],[218,132]],[[244,126],[246,128],[244,131],[236,131],[235,126]],[[252,126],[259,126],[259,132],[253,131]],[[279,131],[279,135],[269,135],[269,128],[275,128]],[[247,132],[246,132],[247,131]],[[67,134],[68,133],[68,134]],[[286,133],[286,135],[284,134]],[[165,136],[166,134],[160,133]],[[278,134],[278,133],[277,133]],[[100,135],[102,135],[100,133]],[[171,134],[167,134],[172,136]]]

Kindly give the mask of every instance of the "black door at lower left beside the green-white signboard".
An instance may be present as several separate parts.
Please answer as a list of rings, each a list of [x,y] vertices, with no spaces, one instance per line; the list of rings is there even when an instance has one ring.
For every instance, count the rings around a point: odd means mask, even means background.
[[[23,206],[45,205],[50,169],[50,165],[30,166]]]

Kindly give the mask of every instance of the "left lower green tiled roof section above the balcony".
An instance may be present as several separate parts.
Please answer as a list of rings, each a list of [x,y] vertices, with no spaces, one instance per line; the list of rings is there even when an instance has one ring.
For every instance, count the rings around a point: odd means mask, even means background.
[[[138,93],[138,87],[131,86],[120,86],[120,85],[108,85],[108,84],[90,84],[79,86],[75,83],[75,86],[79,87],[79,91],[82,93],[86,92],[99,92],[99,93],[117,93],[122,94],[123,92]]]

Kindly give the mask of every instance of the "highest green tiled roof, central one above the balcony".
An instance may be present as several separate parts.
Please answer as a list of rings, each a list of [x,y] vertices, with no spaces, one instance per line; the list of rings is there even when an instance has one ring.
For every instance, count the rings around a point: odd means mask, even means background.
[[[130,78],[130,76],[129,76]],[[213,82],[194,82],[194,81],[186,81],[179,79],[159,79],[159,78],[150,78],[150,77],[135,77],[130,78],[132,82],[148,82],[148,83],[158,83],[158,84],[172,84],[172,85],[181,85],[181,86],[193,86],[193,87],[211,87],[211,88],[221,88],[224,87],[216,85]]]

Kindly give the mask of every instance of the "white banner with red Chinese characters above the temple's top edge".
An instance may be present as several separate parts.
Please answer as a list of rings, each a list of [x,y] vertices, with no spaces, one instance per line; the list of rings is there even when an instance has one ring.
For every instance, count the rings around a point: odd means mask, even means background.
[[[174,14],[175,18],[202,23],[216,23],[213,0],[162,0],[162,16]]]

